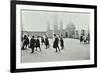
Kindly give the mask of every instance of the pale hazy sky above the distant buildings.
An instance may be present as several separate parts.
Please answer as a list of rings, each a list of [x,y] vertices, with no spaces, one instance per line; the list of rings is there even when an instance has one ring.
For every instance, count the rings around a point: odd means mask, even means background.
[[[22,28],[25,31],[46,31],[47,25],[53,29],[54,24],[62,22],[63,28],[73,23],[76,29],[88,29],[90,24],[89,13],[75,12],[52,12],[52,11],[33,11],[22,10]]]

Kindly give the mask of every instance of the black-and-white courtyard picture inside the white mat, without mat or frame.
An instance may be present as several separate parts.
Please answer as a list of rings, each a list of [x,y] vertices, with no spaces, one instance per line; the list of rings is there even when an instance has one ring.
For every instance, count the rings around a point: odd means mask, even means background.
[[[21,62],[90,59],[90,13],[21,10]]]

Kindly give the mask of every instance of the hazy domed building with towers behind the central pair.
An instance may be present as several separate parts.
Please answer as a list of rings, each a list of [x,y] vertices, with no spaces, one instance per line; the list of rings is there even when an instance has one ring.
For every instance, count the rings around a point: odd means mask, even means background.
[[[75,25],[73,23],[69,23],[66,25],[66,28],[63,29],[63,23],[60,22],[60,28],[58,29],[58,24],[54,24],[53,29],[50,29],[50,24],[47,26],[47,36],[52,38],[53,34],[62,35],[64,38],[75,38]]]

